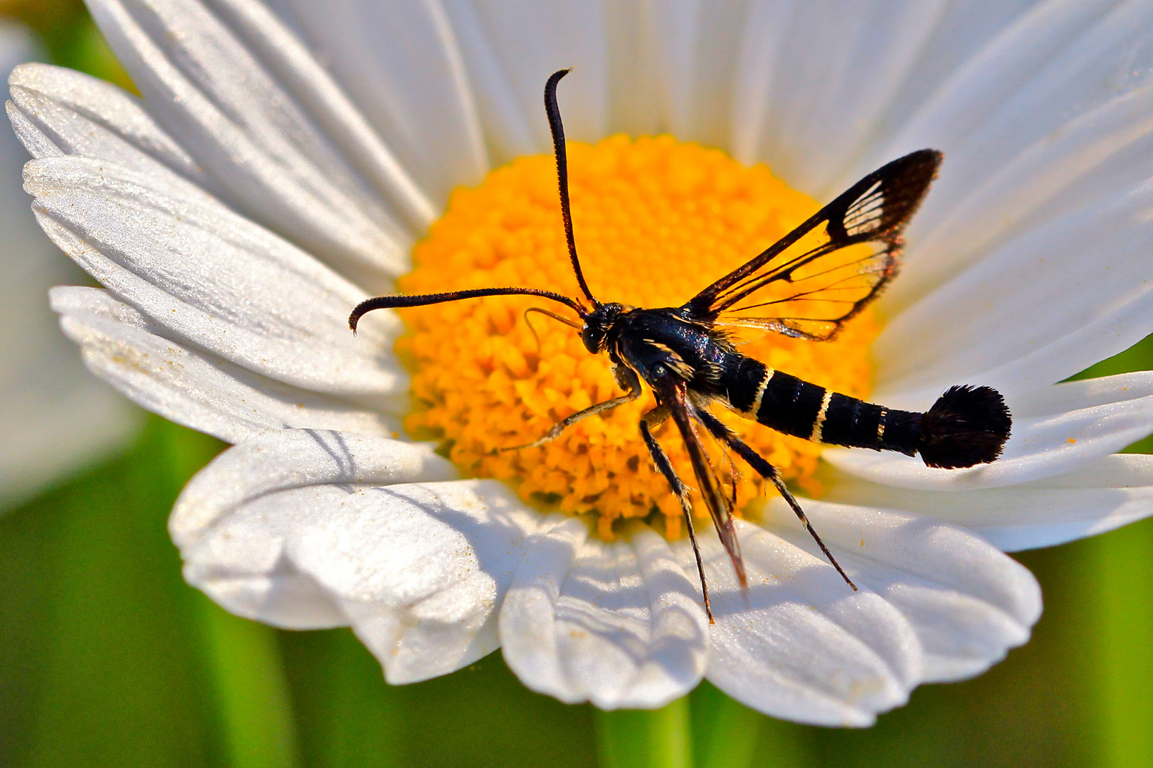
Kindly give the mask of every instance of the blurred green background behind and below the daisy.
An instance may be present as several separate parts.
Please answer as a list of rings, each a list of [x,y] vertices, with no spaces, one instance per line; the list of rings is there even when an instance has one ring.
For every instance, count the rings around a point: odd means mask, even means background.
[[[81,2],[0,15],[54,63],[130,88]],[[1153,368],[1151,339],[1082,375]],[[1153,766],[1153,520],[1020,553],[1045,590],[1032,641],[875,728],[771,720],[708,684],[604,714],[527,691],[499,653],[390,687],[347,630],[225,614],[181,580],[165,530],[223,448],[152,417],[122,457],[0,510],[0,766]]]

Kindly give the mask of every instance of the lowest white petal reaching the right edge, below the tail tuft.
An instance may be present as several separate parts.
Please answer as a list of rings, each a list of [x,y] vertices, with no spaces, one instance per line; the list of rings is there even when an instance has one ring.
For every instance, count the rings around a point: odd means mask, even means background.
[[[829,501],[899,509],[948,520],[1004,552],[1052,547],[1153,514],[1153,457],[1105,456],[1052,478],[958,493],[911,491],[845,477]]]

